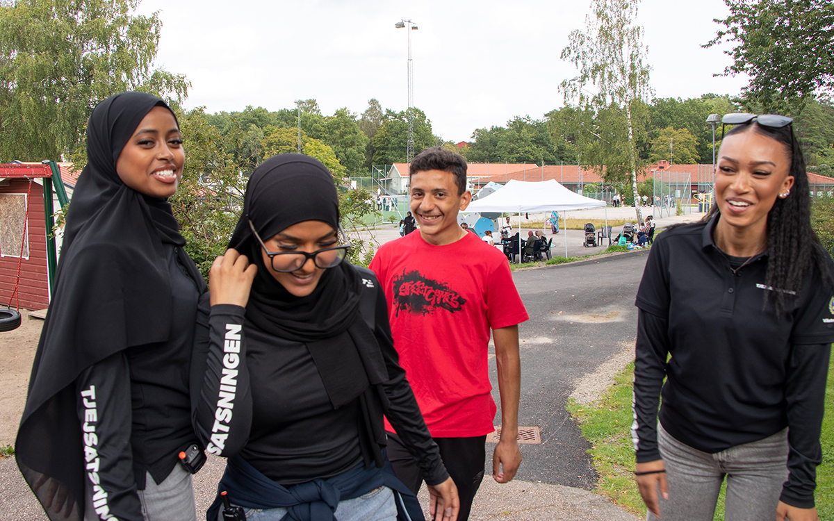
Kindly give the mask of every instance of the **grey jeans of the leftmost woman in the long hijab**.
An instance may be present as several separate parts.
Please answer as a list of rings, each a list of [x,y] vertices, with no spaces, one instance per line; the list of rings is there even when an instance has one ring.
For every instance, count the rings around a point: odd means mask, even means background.
[[[89,488],[89,487],[88,487]],[[84,521],[99,521],[93,510],[88,490]],[[145,475],[145,489],[138,491],[145,521],[197,521],[191,473],[177,463],[162,483],[156,484],[150,473]]]

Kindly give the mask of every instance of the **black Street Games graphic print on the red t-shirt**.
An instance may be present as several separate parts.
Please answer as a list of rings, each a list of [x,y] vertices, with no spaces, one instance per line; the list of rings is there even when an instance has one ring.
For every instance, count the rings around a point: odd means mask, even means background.
[[[466,299],[449,288],[445,283],[431,280],[418,271],[405,273],[394,278],[394,306],[399,311],[428,315],[435,309],[443,308],[452,313],[460,311]]]

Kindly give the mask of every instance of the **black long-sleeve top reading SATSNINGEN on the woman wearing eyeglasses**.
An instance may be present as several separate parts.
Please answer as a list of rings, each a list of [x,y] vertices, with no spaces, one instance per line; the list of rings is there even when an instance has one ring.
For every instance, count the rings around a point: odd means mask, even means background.
[[[376,285],[379,288],[379,284]],[[385,361],[385,411],[427,477],[449,477],[420,414],[391,339],[384,294],[377,289],[374,336]],[[200,306],[192,378],[204,371],[194,427],[209,453],[240,454],[282,485],[330,478],[362,461],[358,400],[334,409],[304,343],[276,338],[244,321],[244,308]],[[361,318],[360,318],[361,319]],[[204,340],[201,341],[200,338]],[[381,424],[382,418],[375,418]],[[371,440],[376,443],[376,440]]]

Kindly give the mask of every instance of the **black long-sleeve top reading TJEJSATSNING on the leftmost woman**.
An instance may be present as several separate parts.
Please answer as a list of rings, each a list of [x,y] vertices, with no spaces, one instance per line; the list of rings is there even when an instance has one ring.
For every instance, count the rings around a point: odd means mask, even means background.
[[[125,349],[85,369],[76,380],[83,430],[87,501],[99,517],[142,521],[137,490],[147,473],[162,483],[178,453],[196,443],[188,373],[198,287],[173,245],[163,244],[172,289],[167,342]]]

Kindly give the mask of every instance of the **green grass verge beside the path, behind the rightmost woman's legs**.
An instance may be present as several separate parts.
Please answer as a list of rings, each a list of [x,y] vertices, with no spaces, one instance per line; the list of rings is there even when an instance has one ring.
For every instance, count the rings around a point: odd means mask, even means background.
[[[615,377],[615,383],[599,401],[583,405],[570,400],[568,411],[577,419],[591,448],[594,468],[600,474],[597,491],[638,517],[646,506],[637,491],[634,448],[631,444],[631,385],[634,363]],[[822,464],[816,468],[816,508],[821,521],[834,521],[834,358],[828,368],[826,413],[822,420]],[[716,521],[724,519],[724,488],[716,507]]]

